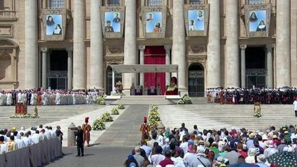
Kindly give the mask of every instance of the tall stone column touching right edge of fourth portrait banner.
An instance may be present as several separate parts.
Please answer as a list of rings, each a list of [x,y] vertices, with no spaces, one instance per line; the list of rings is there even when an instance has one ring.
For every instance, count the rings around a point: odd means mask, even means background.
[[[207,87],[221,87],[221,42],[220,42],[220,3],[208,0],[210,4],[210,21],[207,49]]]

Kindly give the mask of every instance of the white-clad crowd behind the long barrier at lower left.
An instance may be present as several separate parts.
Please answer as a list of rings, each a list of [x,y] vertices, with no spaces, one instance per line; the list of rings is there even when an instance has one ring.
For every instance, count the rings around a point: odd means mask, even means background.
[[[0,130],[0,154],[8,153],[40,142],[47,142],[47,140],[58,139],[62,142],[63,133],[61,127],[56,126],[56,131],[53,131],[52,126],[39,125],[39,127],[32,127],[30,131],[25,131],[22,126],[20,131],[15,127],[11,130]]]

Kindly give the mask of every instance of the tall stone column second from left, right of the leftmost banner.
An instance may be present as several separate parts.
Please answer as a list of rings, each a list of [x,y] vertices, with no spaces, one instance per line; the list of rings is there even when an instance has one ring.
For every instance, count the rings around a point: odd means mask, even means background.
[[[99,38],[99,37],[98,37]],[[85,1],[74,0],[74,75],[73,89],[86,89]]]

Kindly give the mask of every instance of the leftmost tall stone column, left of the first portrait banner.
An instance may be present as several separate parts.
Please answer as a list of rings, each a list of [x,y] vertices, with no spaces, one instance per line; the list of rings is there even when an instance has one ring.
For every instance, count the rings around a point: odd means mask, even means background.
[[[25,89],[38,85],[37,1],[25,0]]]

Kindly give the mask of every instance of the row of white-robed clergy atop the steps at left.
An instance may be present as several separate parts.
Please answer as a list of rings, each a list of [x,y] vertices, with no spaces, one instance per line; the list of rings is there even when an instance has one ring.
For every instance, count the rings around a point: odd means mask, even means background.
[[[94,90],[12,90],[0,91],[0,106],[23,103],[27,105],[92,104],[98,91]]]

